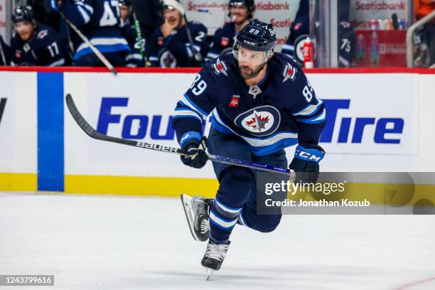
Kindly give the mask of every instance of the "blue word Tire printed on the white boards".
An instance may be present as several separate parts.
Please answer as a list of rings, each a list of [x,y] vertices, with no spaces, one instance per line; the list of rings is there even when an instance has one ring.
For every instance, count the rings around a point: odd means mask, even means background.
[[[326,124],[321,134],[321,142],[358,144],[367,134],[364,129],[374,126],[375,134],[371,136],[371,139],[375,143],[400,144],[399,137],[403,133],[404,119],[392,117],[342,117],[337,119],[338,111],[349,109],[350,100],[323,100],[323,102],[325,102],[326,109]],[[338,138],[333,140],[336,129],[338,129]],[[349,136],[350,131],[353,131],[352,136]]]

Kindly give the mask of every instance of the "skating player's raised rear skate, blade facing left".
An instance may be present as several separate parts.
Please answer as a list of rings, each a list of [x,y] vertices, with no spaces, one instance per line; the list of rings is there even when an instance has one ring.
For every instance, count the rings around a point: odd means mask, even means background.
[[[213,199],[203,198],[200,195],[193,195],[190,198],[189,195],[182,194],[181,203],[193,238],[201,242],[208,240],[210,235],[208,213]]]

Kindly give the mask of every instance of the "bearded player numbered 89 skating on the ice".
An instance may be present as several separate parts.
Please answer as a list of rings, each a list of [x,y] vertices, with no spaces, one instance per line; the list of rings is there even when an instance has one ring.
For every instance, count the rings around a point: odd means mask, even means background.
[[[221,55],[196,75],[172,123],[181,148],[190,154],[181,157],[184,164],[202,168],[208,145],[210,154],[285,168],[284,148],[299,144],[289,167],[297,181],[317,181],[325,154],[318,146],[325,107],[294,60],[273,52],[275,45],[272,24],[253,19],[237,33],[232,54]],[[205,139],[202,125],[210,113]],[[280,210],[257,215],[252,170],[223,163],[213,168],[219,181],[214,200],[181,197],[193,237],[208,240],[201,264],[210,271],[220,269],[236,223],[272,232],[281,220]]]

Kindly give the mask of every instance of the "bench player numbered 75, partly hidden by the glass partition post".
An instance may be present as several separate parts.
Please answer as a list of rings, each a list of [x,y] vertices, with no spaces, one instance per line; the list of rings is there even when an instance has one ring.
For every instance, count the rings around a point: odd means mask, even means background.
[[[340,1],[340,18],[338,23],[339,52],[338,65],[349,68],[355,58],[355,31],[349,22],[350,0]],[[282,45],[281,53],[291,56],[299,65],[304,63],[302,46],[310,36],[309,0],[301,0],[296,17],[290,26],[289,38]]]

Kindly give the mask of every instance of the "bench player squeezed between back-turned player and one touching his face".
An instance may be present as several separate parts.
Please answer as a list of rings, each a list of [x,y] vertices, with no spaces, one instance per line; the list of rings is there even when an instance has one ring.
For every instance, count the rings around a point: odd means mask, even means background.
[[[134,18],[131,16],[131,0],[119,0],[119,13],[123,21],[122,34],[124,34],[127,43],[130,46],[130,52],[127,54],[125,61],[129,68],[143,67],[145,65],[145,38],[144,31],[138,26],[134,26]]]

